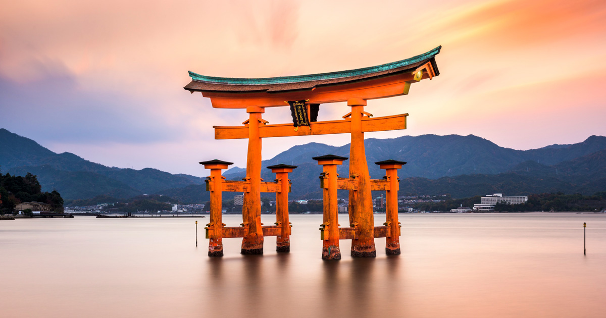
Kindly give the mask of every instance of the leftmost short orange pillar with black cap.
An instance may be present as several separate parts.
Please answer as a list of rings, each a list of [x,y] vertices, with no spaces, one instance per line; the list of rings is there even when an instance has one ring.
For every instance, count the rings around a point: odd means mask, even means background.
[[[210,223],[206,225],[208,242],[208,256],[223,256],[223,227],[225,224],[221,220],[222,208],[222,169],[227,169],[233,162],[221,161],[218,159],[211,161],[202,161],[205,169],[210,169],[210,176],[207,181],[207,190],[210,191]]]

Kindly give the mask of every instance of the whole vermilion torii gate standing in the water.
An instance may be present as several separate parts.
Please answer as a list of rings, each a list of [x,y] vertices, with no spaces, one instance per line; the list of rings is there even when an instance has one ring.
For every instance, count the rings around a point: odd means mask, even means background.
[[[372,114],[364,111],[364,106],[367,105],[368,99],[388,98],[408,94],[410,85],[421,81],[422,79],[432,79],[439,75],[438,66],[435,61],[435,56],[438,55],[441,47],[437,47],[422,55],[414,56],[413,58],[404,59],[402,61],[382,64],[375,67],[358,68],[355,70],[339,71],[332,73],[321,73],[314,75],[303,76],[285,76],[278,78],[218,78],[213,76],[198,75],[189,72],[192,81],[187,84],[185,90],[195,93],[199,91],[202,96],[210,98],[214,108],[242,108],[248,113],[248,119],[242,122],[241,126],[224,127],[213,126],[215,128],[215,139],[246,139],[248,138],[248,156],[246,165],[246,178],[242,182],[230,181],[233,184],[232,190],[222,190],[221,185],[227,181],[223,181],[221,177],[221,169],[227,168],[230,162],[208,161],[201,162],[205,167],[211,169],[211,176],[208,179],[208,190],[212,193],[211,197],[215,197],[215,202],[220,205],[221,191],[242,191],[244,192],[244,205],[242,206],[242,219],[244,223],[240,230],[232,230],[226,228],[221,223],[221,208],[218,210],[211,203],[210,224],[208,225],[209,238],[209,256],[222,256],[223,237],[243,237],[242,254],[262,254],[263,253],[263,237],[267,235],[278,235],[278,230],[271,230],[268,227],[263,227],[261,224],[261,192],[276,192],[282,193],[282,197],[287,193],[284,184],[278,188],[273,182],[262,182],[261,179],[261,139],[266,137],[285,137],[285,136],[310,136],[318,134],[351,134],[350,148],[350,178],[341,180],[341,184],[349,194],[349,220],[350,228],[353,230],[335,231],[338,227],[336,219],[332,224],[328,224],[328,228],[333,228],[332,231],[322,230],[322,235],[331,236],[331,241],[338,242],[339,239],[352,239],[351,256],[353,257],[373,257],[376,256],[375,237],[391,237],[391,242],[388,239],[387,253],[398,254],[399,243],[394,242],[395,237],[399,236],[397,226],[397,194],[395,199],[395,217],[396,222],[391,221],[385,229],[374,227],[373,205],[371,190],[387,190],[389,185],[376,185],[381,182],[373,182],[370,180],[366,154],[364,150],[364,133],[370,131],[387,131],[406,129],[406,118],[408,114],[396,114],[393,116],[385,116],[379,118],[371,118]],[[347,102],[351,107],[351,111],[345,114],[342,119],[336,121],[321,121],[310,122],[309,129],[293,129],[292,124],[268,124],[267,121],[261,118],[267,107],[282,107],[287,106],[288,101],[305,101],[307,105],[307,117],[309,117],[310,105],[327,104],[332,102]],[[317,159],[317,158],[315,158]],[[334,165],[334,174],[336,174],[337,161],[342,159],[330,159],[330,165]],[[330,161],[328,160],[328,161]],[[318,161],[319,164],[327,164],[327,161]],[[377,164],[381,164],[378,162]],[[397,179],[397,168],[401,167],[404,162],[387,162],[382,164],[382,168],[388,171],[388,178]],[[398,166],[399,167],[396,167]],[[293,167],[294,168],[294,167]],[[213,173],[212,171],[215,171]],[[333,171],[332,168],[329,169]],[[292,171],[290,169],[290,171]],[[330,177],[330,171],[327,171],[325,165],[324,177]],[[390,172],[391,171],[391,172]],[[396,171],[394,173],[394,171]],[[277,170],[276,170],[277,173]],[[334,176],[333,174],[333,176]],[[280,179],[278,177],[278,179]],[[341,178],[343,179],[343,178]],[[338,180],[338,179],[335,179]],[[397,180],[396,180],[397,181]],[[282,181],[279,181],[282,182]],[[287,182],[287,181],[285,181]],[[327,184],[330,184],[329,181]],[[236,184],[237,183],[237,184]],[[337,186],[335,184],[335,186]],[[382,188],[381,188],[382,187]],[[397,187],[396,184],[391,184],[391,187]],[[325,188],[325,187],[324,187]],[[235,190],[233,190],[235,189]],[[325,188],[326,190],[327,188]],[[214,192],[213,192],[214,191]],[[336,193],[336,188],[334,188]],[[393,197],[397,193],[396,189],[391,189],[391,194],[388,197]],[[287,194],[286,194],[287,195]],[[325,193],[325,199],[326,197]],[[287,197],[287,196],[286,196]],[[336,197],[335,197],[336,198]],[[218,201],[216,201],[219,199]],[[390,200],[388,199],[388,204]],[[288,214],[288,202],[286,207],[282,207],[282,213]],[[324,202],[325,224],[326,228],[327,202]],[[391,209],[393,212],[393,202]],[[389,207],[388,207],[389,210]],[[218,215],[217,212],[218,211]],[[393,217],[393,214],[392,214]],[[388,220],[389,221],[389,220]],[[280,223],[278,225],[278,223]],[[336,225],[336,227],[335,227]],[[282,235],[290,234],[290,225],[282,220],[276,222],[276,227],[281,227],[279,231]],[[273,226],[272,226],[273,227]],[[387,230],[389,227],[389,230]],[[287,231],[288,228],[288,231]],[[226,229],[223,231],[222,229]],[[225,236],[225,233],[231,233],[231,236]],[[344,233],[339,237],[339,232]],[[381,233],[384,232],[384,234]],[[333,233],[333,234],[330,234]],[[334,234],[337,233],[337,234]],[[350,234],[346,234],[350,233]],[[352,234],[353,233],[353,234]],[[337,235],[334,237],[334,235]],[[397,240],[396,240],[397,242]],[[284,243],[284,242],[283,242]],[[326,245],[326,244],[325,244]],[[330,248],[328,245],[326,248]],[[391,248],[390,248],[391,246]],[[338,248],[338,244],[336,245]],[[284,246],[282,248],[285,250]],[[221,251],[218,253],[218,251]],[[279,250],[279,248],[278,248]],[[326,251],[324,251],[326,252]],[[333,248],[330,248],[328,253],[323,252],[325,259],[339,259],[339,253],[334,253]],[[326,255],[324,255],[326,254]],[[337,257],[338,254],[338,257]]]

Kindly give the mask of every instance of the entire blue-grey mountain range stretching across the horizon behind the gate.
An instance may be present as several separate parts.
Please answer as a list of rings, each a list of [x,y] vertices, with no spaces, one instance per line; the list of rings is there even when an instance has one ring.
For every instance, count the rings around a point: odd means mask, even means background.
[[[365,140],[368,168],[373,178],[382,177],[376,161],[407,161],[400,171],[401,194],[445,194],[466,197],[487,193],[507,195],[562,191],[592,194],[606,189],[606,137],[591,136],[584,142],[550,145],[533,150],[499,147],[481,137],[468,135],[403,136]],[[321,198],[318,176],[322,167],[311,157],[322,154],[349,156],[349,145],[334,147],[310,143],[292,147],[263,161],[262,167],[293,164],[290,174],[293,198]],[[348,175],[348,162],[339,174]],[[133,170],[107,167],[72,153],[57,154],[35,141],[0,129],[0,168],[4,173],[38,175],[43,191],[58,190],[65,199],[99,195],[133,197],[165,194],[182,202],[208,200],[204,179],[170,174],[153,168]],[[228,179],[241,179],[245,169],[225,171]],[[275,178],[268,169],[262,177]],[[342,191],[346,196],[347,192]],[[231,197],[233,193],[225,193]]]

